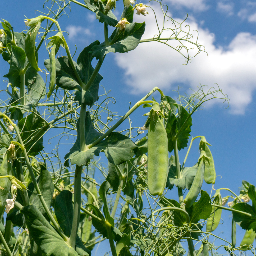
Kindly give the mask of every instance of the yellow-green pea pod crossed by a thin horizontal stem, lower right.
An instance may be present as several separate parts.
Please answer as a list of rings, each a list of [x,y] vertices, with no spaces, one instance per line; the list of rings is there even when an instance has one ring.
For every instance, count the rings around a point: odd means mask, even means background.
[[[220,194],[214,198],[214,201],[216,205],[222,206],[222,199]],[[221,218],[221,211],[222,209],[212,206],[212,214],[206,223],[206,232],[212,232],[218,227]]]

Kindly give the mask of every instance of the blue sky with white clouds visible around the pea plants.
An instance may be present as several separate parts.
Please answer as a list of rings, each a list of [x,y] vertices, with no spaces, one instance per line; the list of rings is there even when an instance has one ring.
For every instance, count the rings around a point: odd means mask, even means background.
[[[1,16],[8,20],[15,31],[25,28],[23,19],[40,15],[34,10],[42,10],[44,1],[9,0],[1,3]],[[137,2],[138,3],[138,2]],[[156,14],[159,9],[156,3],[143,2],[154,6]],[[191,63],[184,66],[185,59],[174,50],[157,42],[140,44],[127,54],[108,54],[100,70],[103,76],[102,85],[111,89],[110,96],[116,99],[114,111],[120,115],[126,113],[129,102],[133,105],[154,86],[158,86],[166,95],[177,98],[173,90],[182,86],[180,92],[189,93],[189,88],[196,89],[199,84],[219,85],[223,93],[230,97],[230,106],[220,101],[207,104],[204,110],[193,116],[191,136],[204,135],[212,145],[217,177],[215,188],[228,187],[235,193],[243,179],[256,184],[255,178],[255,117],[256,117],[256,2],[247,0],[164,0],[169,6],[169,15],[176,20],[185,18],[191,30],[199,32],[198,41],[206,47]],[[117,2],[115,15],[122,12],[122,1]],[[135,21],[146,22],[143,38],[156,34],[154,16],[148,9],[147,16],[134,15]],[[59,19],[62,30],[69,32],[67,42],[71,53],[79,52],[94,40],[103,41],[103,26],[94,18],[94,14],[75,4],[71,13]],[[194,32],[193,32],[194,33]],[[195,32],[196,38],[196,32]],[[60,52],[66,55],[64,50]],[[40,49],[39,67],[43,68],[43,59],[48,58],[46,51]],[[8,65],[0,58],[0,75],[8,72]],[[1,82],[2,89],[6,84]],[[1,96],[1,95],[0,95]],[[157,97],[156,97],[157,98]],[[140,109],[131,116],[133,126],[143,126],[145,109]],[[125,125],[122,125],[122,130]],[[194,165],[198,158],[198,143],[195,141],[187,166]],[[69,147],[63,147],[62,157]],[[66,150],[66,151],[65,151]],[[65,151],[65,152],[64,152]],[[185,152],[186,153],[186,152]],[[185,156],[180,153],[182,161]],[[209,186],[204,189],[209,191]],[[228,193],[222,192],[223,196]],[[228,216],[228,215],[227,215]],[[226,219],[228,224],[231,219]],[[243,234],[243,231],[238,231]],[[230,239],[227,231],[225,236]],[[240,240],[241,241],[241,240]],[[238,243],[240,243],[238,240]]]

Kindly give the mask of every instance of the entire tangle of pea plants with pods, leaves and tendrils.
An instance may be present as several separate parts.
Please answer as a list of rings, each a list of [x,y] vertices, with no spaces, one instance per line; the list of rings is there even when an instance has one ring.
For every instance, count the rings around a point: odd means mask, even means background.
[[[113,256],[186,252],[206,256],[219,248],[211,238],[219,239],[230,255],[237,250],[254,254],[255,187],[243,181],[239,195],[228,188],[212,189],[209,195],[201,187],[204,181],[212,188],[215,184],[210,144],[199,135],[188,146],[192,114],[208,100],[228,100],[227,95],[219,88],[201,86],[176,101],[155,87],[119,120],[109,109],[113,101],[109,92],[98,95],[103,79],[99,71],[109,52],[124,53],[139,43],[156,41],[180,52],[188,63],[190,50],[197,49],[197,55],[204,47],[193,38],[189,26],[168,16],[162,1],[155,1],[154,6],[162,10],[163,25],[156,18],[158,34],[143,40],[146,24],[133,22],[133,15],[145,15],[146,20],[150,6],[135,5],[134,0],[84,2],[46,1],[48,13],[26,19],[26,33],[13,31],[2,20],[0,52],[9,72],[4,76],[7,87],[1,90],[0,106],[1,254],[90,256],[93,247],[107,239]],[[104,27],[104,41],[92,42],[76,61],[57,21],[75,4],[85,15],[95,13]],[[124,4],[120,18],[112,12],[116,4]],[[114,27],[110,36],[109,27]],[[37,52],[44,45],[46,69],[38,66]],[[67,55],[56,58],[60,47]],[[95,68],[94,58],[98,60]],[[48,81],[42,72],[49,74]],[[154,93],[160,93],[160,102]],[[143,127],[132,127],[130,115],[140,106],[148,108],[147,121]],[[129,127],[118,131],[126,120]],[[46,153],[43,149],[49,130],[60,131],[59,137],[76,136],[64,163],[57,150]],[[199,158],[194,166],[185,167],[195,139]],[[180,164],[179,151],[185,148],[187,154]],[[108,168],[99,162],[100,152],[105,153]],[[101,173],[103,182],[94,179],[95,172]],[[167,191],[174,187],[178,198],[167,198],[172,194]],[[222,189],[231,195],[222,198]],[[229,198],[232,202],[225,207]],[[231,241],[217,235],[222,210],[233,215]],[[237,224],[245,235],[236,247]]]

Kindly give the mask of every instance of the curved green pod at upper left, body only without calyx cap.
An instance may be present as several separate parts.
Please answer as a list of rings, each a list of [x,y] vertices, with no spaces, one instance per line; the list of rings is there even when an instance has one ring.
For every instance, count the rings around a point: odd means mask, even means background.
[[[40,29],[41,22],[39,21],[35,26],[32,26],[25,37],[25,52],[28,58],[30,65],[36,69],[36,71],[40,71],[41,69],[38,68],[36,54],[35,54],[35,42],[36,36]]]

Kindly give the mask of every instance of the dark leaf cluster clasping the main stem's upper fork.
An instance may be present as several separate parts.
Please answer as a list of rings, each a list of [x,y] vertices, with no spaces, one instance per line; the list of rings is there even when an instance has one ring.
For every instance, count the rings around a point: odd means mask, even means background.
[[[89,46],[81,51],[77,58],[77,63],[73,61],[77,72],[84,84],[89,81],[94,71],[94,68],[91,65],[93,57],[92,54],[89,52],[92,50],[93,46],[96,46],[98,44],[99,41],[91,43]],[[45,67],[50,71],[49,59],[45,60]],[[100,81],[103,79],[103,77],[99,73],[94,79],[94,82],[92,83],[90,89],[87,92],[82,91],[82,88],[80,87],[79,82],[71,67],[68,56],[64,56],[56,59],[56,75],[57,86],[67,90],[78,90],[76,91],[75,100],[78,100],[79,104],[84,103],[86,105],[92,106],[94,102],[99,99],[99,84]]]

